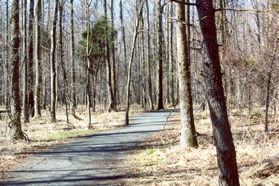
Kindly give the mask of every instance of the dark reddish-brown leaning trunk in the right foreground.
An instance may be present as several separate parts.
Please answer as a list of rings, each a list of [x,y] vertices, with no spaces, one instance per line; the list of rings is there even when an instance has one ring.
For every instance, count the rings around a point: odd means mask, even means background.
[[[239,185],[236,152],[229,125],[216,37],[215,12],[212,0],[197,0],[201,30],[209,61],[204,61],[207,99],[217,150],[219,185]]]

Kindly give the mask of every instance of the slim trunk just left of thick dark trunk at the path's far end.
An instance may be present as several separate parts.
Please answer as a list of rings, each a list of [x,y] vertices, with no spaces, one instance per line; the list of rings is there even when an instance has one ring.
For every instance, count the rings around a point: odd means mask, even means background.
[[[150,73],[150,62],[151,62],[151,46],[150,46],[150,21],[149,21],[149,2],[146,1],[146,23],[147,23],[147,64],[146,64],[146,76],[148,81],[148,97],[150,109],[153,110],[153,97],[152,97],[152,82]]]

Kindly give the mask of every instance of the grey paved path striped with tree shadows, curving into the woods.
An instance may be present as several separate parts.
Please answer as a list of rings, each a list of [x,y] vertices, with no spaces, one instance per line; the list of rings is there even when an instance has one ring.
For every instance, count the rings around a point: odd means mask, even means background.
[[[0,185],[108,185],[124,178],[121,159],[136,144],[162,130],[169,111],[149,112],[121,129],[81,137],[37,153]],[[123,167],[122,167],[123,168]]]

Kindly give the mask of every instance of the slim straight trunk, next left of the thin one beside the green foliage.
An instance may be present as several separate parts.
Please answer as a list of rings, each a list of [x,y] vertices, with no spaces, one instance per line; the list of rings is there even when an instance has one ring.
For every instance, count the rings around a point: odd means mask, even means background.
[[[71,3],[71,63],[72,63],[72,102],[73,109],[77,106],[76,100],[76,72],[75,72],[75,32],[74,32],[74,0],[70,0]]]

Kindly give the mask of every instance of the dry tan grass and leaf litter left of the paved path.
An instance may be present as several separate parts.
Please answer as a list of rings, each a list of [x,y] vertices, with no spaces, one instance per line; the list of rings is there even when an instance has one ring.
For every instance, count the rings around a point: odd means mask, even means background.
[[[2,109],[4,110],[4,109]],[[143,109],[137,105],[131,106],[131,115],[143,112]],[[22,129],[28,135],[31,143],[25,141],[11,142],[9,140],[8,120],[2,114],[0,120],[0,171],[2,176],[6,170],[12,168],[18,162],[25,159],[25,155],[21,152],[25,151],[41,151],[49,146],[65,143],[74,136],[92,134],[104,130],[111,130],[123,126],[124,111],[108,113],[103,110],[102,106],[97,107],[96,112],[92,113],[92,128],[87,129],[88,116],[85,106],[80,106],[75,111],[79,119],[69,114],[70,124],[66,123],[65,110],[59,107],[57,110],[57,122],[50,122],[49,111],[42,110],[42,117],[32,118],[30,123],[23,123]]]

